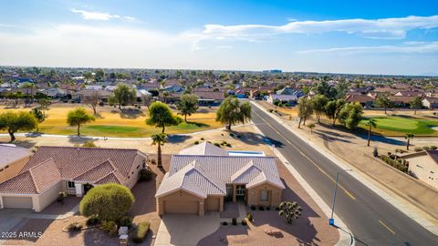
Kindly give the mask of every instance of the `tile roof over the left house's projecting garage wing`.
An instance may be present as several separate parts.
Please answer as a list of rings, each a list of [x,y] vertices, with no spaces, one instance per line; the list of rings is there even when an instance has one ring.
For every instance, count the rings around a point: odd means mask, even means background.
[[[53,159],[47,159],[0,184],[1,193],[38,194],[61,180]]]

